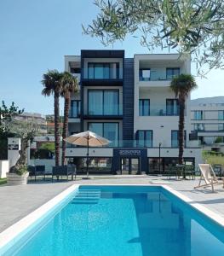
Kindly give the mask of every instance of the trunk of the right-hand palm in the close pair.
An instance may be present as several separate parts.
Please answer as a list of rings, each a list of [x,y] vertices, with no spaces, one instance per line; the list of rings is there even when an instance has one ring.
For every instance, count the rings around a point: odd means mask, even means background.
[[[70,92],[66,93],[65,105],[64,105],[64,123],[63,123],[63,132],[62,132],[63,140],[62,140],[62,156],[61,156],[61,165],[62,166],[64,166],[65,160],[66,160],[66,141],[64,139],[67,137],[69,103],[70,103]]]

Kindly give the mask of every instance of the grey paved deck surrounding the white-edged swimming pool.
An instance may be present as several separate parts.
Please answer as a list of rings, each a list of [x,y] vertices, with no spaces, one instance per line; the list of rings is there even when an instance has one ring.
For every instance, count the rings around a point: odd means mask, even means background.
[[[186,195],[193,202],[202,204],[224,218],[224,189],[215,186],[215,193],[210,189],[193,189],[198,184],[196,180],[175,180],[167,177],[150,176],[107,176],[77,181],[48,183],[29,183],[25,186],[0,186],[0,232],[7,229],[28,213],[43,205],[43,203],[60,194],[72,184],[163,184]]]

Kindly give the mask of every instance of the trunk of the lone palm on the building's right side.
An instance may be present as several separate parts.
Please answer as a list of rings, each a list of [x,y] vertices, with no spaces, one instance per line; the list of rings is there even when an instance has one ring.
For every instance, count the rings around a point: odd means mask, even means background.
[[[184,153],[184,112],[185,112],[185,97],[179,97],[180,113],[179,113],[179,157],[178,162],[180,165],[183,164],[183,153]]]

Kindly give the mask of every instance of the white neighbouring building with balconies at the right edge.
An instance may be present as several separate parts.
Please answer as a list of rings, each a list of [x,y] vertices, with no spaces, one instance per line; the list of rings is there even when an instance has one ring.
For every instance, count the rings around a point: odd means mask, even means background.
[[[224,143],[224,98],[204,98],[191,103],[192,132],[202,145]]]

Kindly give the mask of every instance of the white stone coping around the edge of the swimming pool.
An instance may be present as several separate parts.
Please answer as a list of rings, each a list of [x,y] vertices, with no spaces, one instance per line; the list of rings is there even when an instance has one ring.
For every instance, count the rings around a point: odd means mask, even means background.
[[[69,188],[60,192],[60,194],[55,195],[52,199],[45,202],[41,207],[37,207],[36,210],[30,212],[25,217],[21,218],[19,221],[15,222],[11,226],[9,226],[6,230],[3,230],[0,233],[0,250],[3,247],[7,246],[9,242],[14,241],[14,239],[21,234],[24,230],[30,227],[32,224],[38,220],[38,218],[42,218],[44,214],[49,212],[53,207],[58,205],[61,201],[63,201],[67,195],[70,195],[75,189],[78,189],[79,186],[148,186],[148,187],[160,187],[169,191],[172,195],[177,196],[182,201],[189,204],[192,208],[196,209],[198,212],[203,213],[206,217],[215,221],[215,223],[220,224],[221,227],[224,228],[224,218],[220,216],[218,213],[213,212],[207,207],[204,207],[202,204],[194,202],[187,195],[181,194],[181,192],[172,189],[168,185],[164,184],[72,184]]]

